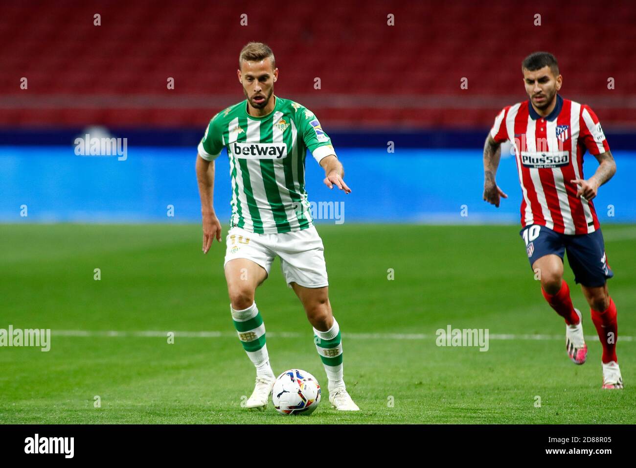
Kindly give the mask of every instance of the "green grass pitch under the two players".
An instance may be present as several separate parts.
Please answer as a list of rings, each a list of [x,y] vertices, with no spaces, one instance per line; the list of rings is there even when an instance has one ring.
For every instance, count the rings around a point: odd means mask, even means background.
[[[199,225],[2,225],[0,328],[50,328],[53,336],[49,352],[0,348],[0,422],[636,422],[636,227],[604,227],[622,391],[600,389],[600,343],[566,266],[593,337],[588,362],[570,362],[563,321],[533,280],[516,225],[318,229],[358,413],[330,408],[312,329],[279,260],[256,302],[274,371],[298,367],[323,384],[308,418],[279,415],[271,403],[263,412],[240,406],[254,369],[232,327],[225,241],[204,256]],[[435,332],[447,325],[546,338],[491,337],[486,352],[438,347]]]

